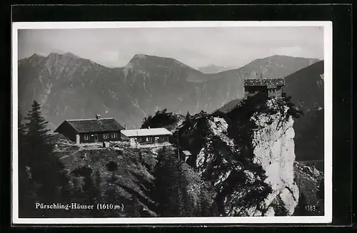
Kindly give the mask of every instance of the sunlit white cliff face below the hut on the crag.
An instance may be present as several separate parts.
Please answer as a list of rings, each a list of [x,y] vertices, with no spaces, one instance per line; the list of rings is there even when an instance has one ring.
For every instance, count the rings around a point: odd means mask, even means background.
[[[287,108],[286,108],[287,111]],[[299,190],[294,180],[295,162],[293,119],[287,121],[286,111],[276,115],[254,115],[252,120],[258,125],[252,135],[254,159],[266,171],[266,182],[273,192],[266,199],[269,206],[276,200],[286,208],[288,215],[293,214],[298,204]],[[269,209],[267,215],[272,215]]]

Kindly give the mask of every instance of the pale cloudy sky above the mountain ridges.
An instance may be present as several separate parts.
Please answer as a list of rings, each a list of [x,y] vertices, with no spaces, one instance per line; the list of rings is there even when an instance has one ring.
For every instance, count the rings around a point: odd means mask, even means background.
[[[18,58],[74,53],[108,67],[135,54],[175,58],[193,68],[240,67],[257,58],[285,55],[323,60],[323,28],[206,27],[122,29],[20,29]]]

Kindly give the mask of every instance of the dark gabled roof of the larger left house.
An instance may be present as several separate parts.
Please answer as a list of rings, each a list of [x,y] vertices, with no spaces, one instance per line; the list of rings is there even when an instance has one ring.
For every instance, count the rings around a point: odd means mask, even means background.
[[[114,120],[114,118],[65,120],[78,133],[110,132],[124,130],[124,127]],[[64,124],[62,123],[62,124]],[[62,125],[61,124],[61,125]],[[61,127],[61,125],[59,127]],[[58,132],[57,128],[54,132]]]

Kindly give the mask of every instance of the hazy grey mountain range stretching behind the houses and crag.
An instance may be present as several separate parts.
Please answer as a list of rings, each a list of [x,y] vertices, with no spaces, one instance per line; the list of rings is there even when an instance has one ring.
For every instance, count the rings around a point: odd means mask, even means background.
[[[179,114],[213,112],[243,97],[244,78],[286,77],[317,61],[270,56],[207,74],[172,58],[144,54],[124,67],[108,68],[73,53],[35,53],[19,61],[19,111],[26,115],[31,102],[38,100],[51,128],[96,114],[139,128],[143,118],[164,108]]]

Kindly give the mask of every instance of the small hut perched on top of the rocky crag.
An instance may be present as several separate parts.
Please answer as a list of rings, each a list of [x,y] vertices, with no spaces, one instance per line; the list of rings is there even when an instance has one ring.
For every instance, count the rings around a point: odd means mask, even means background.
[[[246,79],[244,80],[244,93],[247,96],[263,93],[268,97],[281,97],[284,95],[284,78]]]

